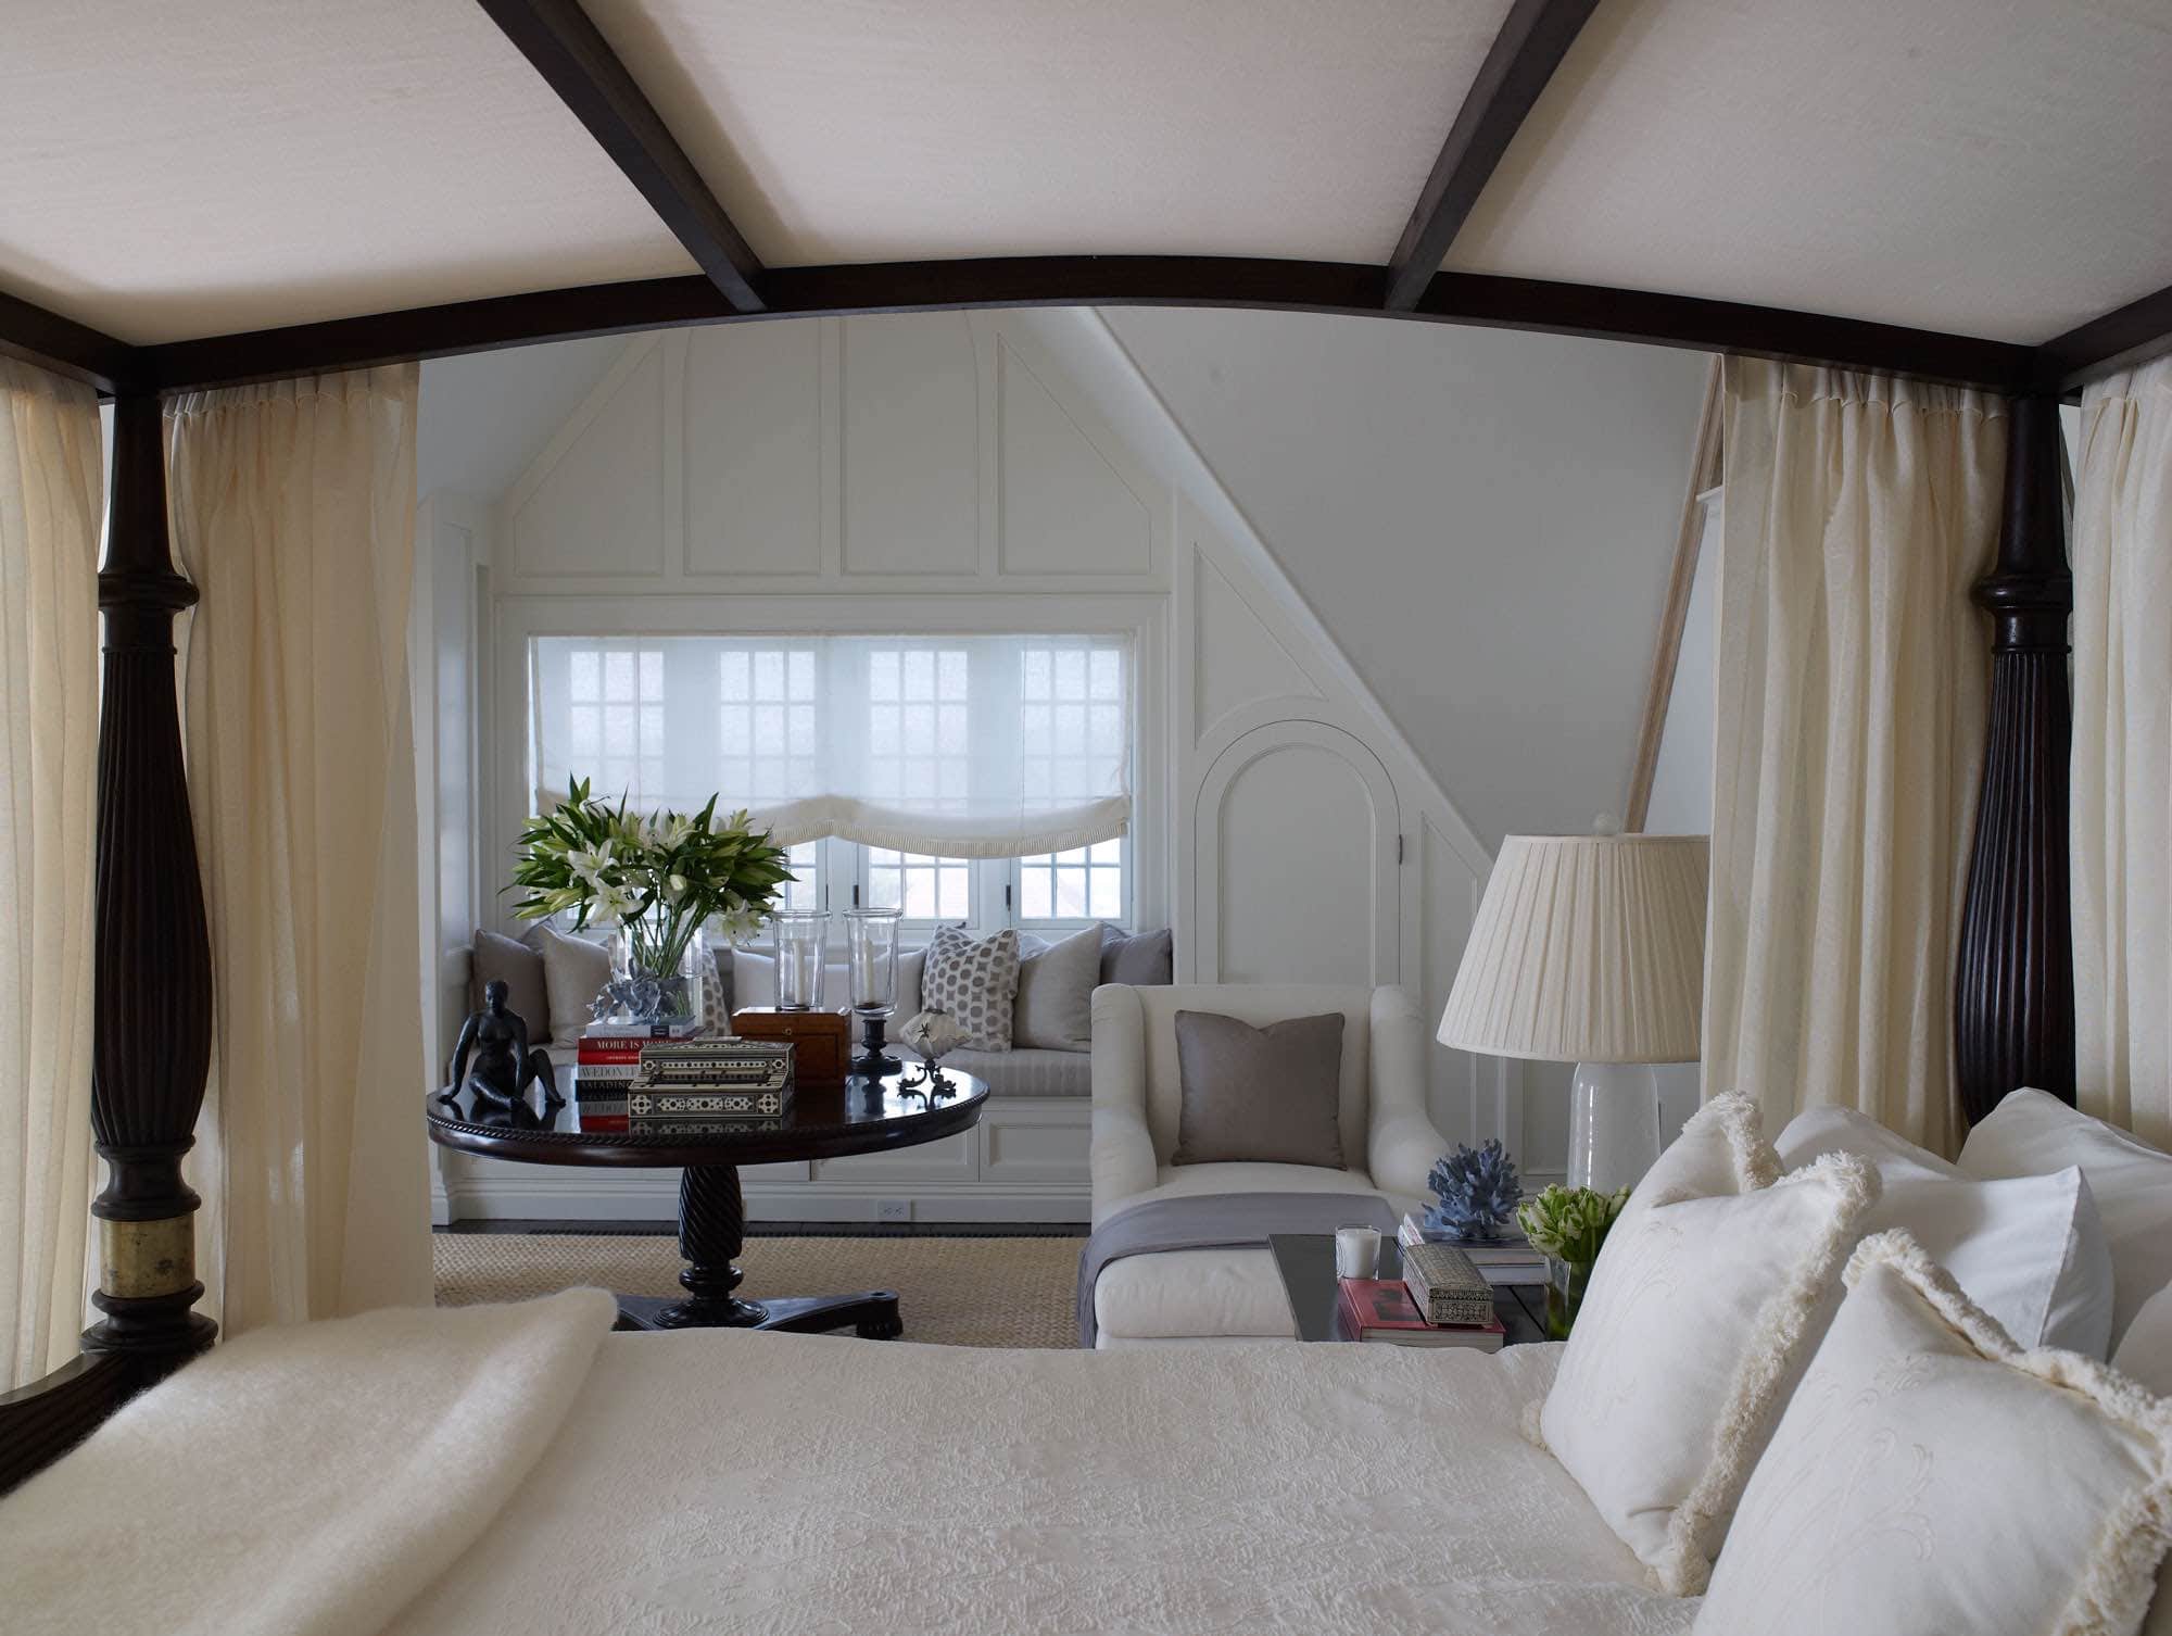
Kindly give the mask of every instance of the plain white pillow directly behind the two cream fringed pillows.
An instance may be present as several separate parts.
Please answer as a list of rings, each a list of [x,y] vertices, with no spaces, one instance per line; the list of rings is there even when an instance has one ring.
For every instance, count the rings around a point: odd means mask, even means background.
[[[1979,1182],[1855,1108],[1811,1108],[1779,1134],[1790,1171],[1818,1154],[1879,1169],[1864,1232],[1909,1232],[2022,1347],[2111,1349],[2111,1249],[2081,1169]]]

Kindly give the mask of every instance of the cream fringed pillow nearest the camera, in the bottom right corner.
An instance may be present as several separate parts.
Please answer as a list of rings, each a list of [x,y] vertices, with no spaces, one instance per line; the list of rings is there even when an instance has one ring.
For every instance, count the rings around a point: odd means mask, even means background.
[[[2172,1506],[2172,1404],[2022,1351],[1905,1234],[1757,1462],[1699,1636],[2133,1636]]]

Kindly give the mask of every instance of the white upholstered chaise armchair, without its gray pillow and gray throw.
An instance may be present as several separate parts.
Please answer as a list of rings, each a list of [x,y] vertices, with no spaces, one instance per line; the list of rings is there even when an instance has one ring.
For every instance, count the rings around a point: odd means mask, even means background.
[[[1340,1010],[1344,1167],[1171,1165],[1184,1104],[1177,1012],[1255,1028]],[[1447,1141],[1425,1115],[1425,1025],[1401,989],[1321,984],[1110,984],[1093,997],[1093,1219],[1186,1193],[1377,1193],[1401,1215],[1425,1193]],[[1171,1249],[1101,1271],[1097,1345],[1290,1338],[1292,1319],[1266,1249]]]

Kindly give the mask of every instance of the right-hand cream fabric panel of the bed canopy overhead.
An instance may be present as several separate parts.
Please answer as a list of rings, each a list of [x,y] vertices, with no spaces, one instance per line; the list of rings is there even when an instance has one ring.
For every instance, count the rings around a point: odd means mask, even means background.
[[[2172,0],[1601,4],[1447,265],[2035,343],[2168,204]]]

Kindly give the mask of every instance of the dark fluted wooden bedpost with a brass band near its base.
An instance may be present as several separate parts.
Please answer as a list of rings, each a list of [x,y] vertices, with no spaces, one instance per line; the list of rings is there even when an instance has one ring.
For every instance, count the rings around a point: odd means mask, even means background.
[[[91,1132],[106,1160],[98,1217],[104,1321],[83,1336],[154,1380],[211,1345],[189,1308],[198,1195],[180,1178],[211,1067],[211,939],[174,697],[174,571],[159,400],[113,404],[113,526],[98,574],[104,700],[98,728],[98,1008]],[[141,1382],[139,1382],[141,1384]]]

